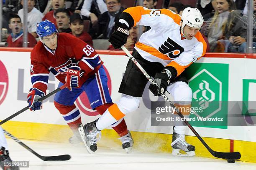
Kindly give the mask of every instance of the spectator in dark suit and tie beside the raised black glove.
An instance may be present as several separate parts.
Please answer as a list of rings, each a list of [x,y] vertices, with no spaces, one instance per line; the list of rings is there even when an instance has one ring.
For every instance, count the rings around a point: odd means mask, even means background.
[[[103,34],[103,39],[108,39],[114,31],[115,21],[123,12],[120,0],[106,0],[108,11],[100,15],[99,21],[90,30],[92,39],[99,38]]]

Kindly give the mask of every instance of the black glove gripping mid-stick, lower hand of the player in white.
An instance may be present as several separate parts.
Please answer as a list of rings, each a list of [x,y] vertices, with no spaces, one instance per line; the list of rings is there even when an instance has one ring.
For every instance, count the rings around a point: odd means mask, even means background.
[[[169,70],[163,70],[161,73],[156,73],[155,83],[151,83],[148,89],[155,95],[161,96],[166,91],[167,86],[170,83],[172,74]]]

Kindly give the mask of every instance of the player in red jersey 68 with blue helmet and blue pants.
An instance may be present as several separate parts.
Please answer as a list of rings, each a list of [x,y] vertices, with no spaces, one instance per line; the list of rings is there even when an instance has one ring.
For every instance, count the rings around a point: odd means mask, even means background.
[[[54,105],[64,120],[73,130],[70,143],[82,142],[78,127],[82,126],[81,115],[74,105],[77,97],[85,91],[93,110],[103,114],[113,105],[111,100],[103,62],[97,52],[87,43],[68,33],[58,33],[53,23],[48,20],[37,24],[36,33],[40,41],[31,52],[31,82],[28,93],[30,110],[42,108],[38,101],[46,94],[49,72],[66,85],[54,97]],[[122,141],[122,147],[130,150],[133,145],[130,132],[124,119],[111,125]]]

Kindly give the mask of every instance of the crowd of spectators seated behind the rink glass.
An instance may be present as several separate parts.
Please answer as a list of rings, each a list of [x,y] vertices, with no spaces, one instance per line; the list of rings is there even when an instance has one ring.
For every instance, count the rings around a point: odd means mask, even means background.
[[[27,8],[23,8],[25,0],[2,3],[1,46],[7,42],[8,47],[24,47],[26,37],[27,47],[33,47],[39,40],[37,23],[50,20],[59,32],[70,33],[95,49],[117,50],[108,42],[115,21],[125,8],[140,5],[168,8],[179,15],[186,7],[197,7],[204,18],[200,32],[207,52],[256,52],[256,0],[27,0]],[[131,28],[125,47],[133,50],[141,33],[149,29]]]

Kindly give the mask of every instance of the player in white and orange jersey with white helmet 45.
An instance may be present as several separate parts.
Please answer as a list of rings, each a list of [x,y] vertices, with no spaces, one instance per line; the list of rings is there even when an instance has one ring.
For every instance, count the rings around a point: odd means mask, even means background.
[[[134,25],[150,26],[151,30],[143,33],[133,50],[133,57],[154,77],[154,84],[149,89],[155,96],[169,92],[179,108],[190,107],[192,90],[187,85],[183,71],[205,54],[206,42],[199,32],[203,18],[197,8],[187,7],[182,16],[171,10],[149,10],[145,7],[130,7],[123,11],[115,22],[115,31],[110,37],[113,47],[125,44],[129,28]],[[121,99],[94,122],[79,128],[88,151],[97,150],[96,136],[100,130],[133,112],[139,106],[147,78],[129,60],[121,82]],[[190,111],[183,110],[182,115],[189,117]],[[176,115],[178,116],[178,115]],[[186,126],[174,122],[172,154],[181,156],[195,155],[195,146],[186,142]],[[183,150],[186,154],[180,154]]]

